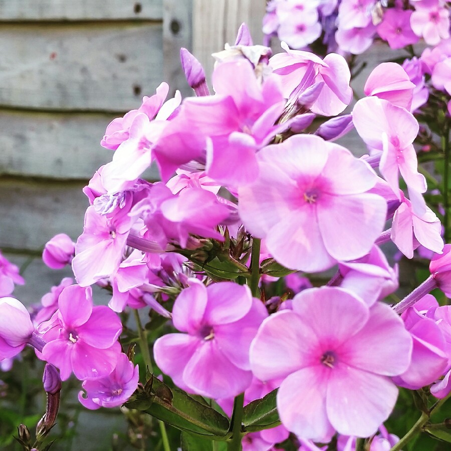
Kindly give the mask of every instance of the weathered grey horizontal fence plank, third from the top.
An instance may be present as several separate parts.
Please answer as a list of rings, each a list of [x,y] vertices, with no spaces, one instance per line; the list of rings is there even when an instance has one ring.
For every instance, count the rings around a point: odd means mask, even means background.
[[[113,156],[113,151],[99,144],[113,118],[103,114],[0,111],[0,175],[91,178]],[[145,173],[150,179],[158,176],[156,168]]]

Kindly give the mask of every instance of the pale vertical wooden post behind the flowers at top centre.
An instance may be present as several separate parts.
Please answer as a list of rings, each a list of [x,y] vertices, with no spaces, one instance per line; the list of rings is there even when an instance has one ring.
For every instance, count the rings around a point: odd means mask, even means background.
[[[245,22],[255,44],[262,43],[265,2],[256,0],[193,0],[193,53],[203,64],[209,79],[214,60],[211,54],[233,45],[240,25]]]

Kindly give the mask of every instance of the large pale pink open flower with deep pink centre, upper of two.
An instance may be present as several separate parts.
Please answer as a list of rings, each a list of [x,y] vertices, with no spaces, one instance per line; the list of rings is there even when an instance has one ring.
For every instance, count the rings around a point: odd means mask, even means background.
[[[260,175],[239,189],[239,213],[279,263],[323,271],[371,250],[386,202],[366,193],[377,176],[364,161],[314,135],[292,136],[257,158]]]

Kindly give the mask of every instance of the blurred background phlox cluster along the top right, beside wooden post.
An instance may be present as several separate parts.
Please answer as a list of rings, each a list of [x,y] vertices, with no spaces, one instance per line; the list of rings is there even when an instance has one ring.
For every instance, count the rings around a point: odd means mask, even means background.
[[[420,38],[435,46],[449,38],[446,4],[445,0],[271,0],[263,32],[267,43],[277,36],[293,49],[320,44],[326,53],[359,55],[375,39],[392,49],[415,44]]]

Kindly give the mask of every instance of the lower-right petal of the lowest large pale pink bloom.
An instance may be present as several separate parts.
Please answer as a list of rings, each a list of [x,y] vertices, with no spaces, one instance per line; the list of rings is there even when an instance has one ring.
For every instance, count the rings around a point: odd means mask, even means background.
[[[327,387],[327,416],[345,435],[368,437],[390,415],[398,396],[387,377],[338,364]],[[352,406],[352,408],[350,408]]]

